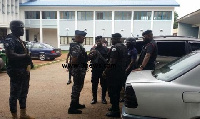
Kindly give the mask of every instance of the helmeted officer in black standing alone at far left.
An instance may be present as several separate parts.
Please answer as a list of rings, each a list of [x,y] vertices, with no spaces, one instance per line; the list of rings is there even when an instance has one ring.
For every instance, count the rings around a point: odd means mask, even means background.
[[[20,118],[33,119],[26,114],[26,98],[29,89],[30,65],[33,68],[25,42],[20,39],[24,35],[24,23],[19,20],[10,22],[11,34],[8,34],[4,47],[8,58],[7,74],[10,77],[10,111],[12,118],[17,119],[17,99],[20,105]]]

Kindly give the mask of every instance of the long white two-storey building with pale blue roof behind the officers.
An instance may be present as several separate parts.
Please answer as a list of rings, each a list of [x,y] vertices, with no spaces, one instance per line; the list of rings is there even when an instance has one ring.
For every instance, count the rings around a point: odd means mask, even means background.
[[[172,35],[178,6],[175,0],[23,0],[20,19],[25,22],[26,40],[37,37],[67,50],[74,31],[85,30],[84,44],[89,50],[97,35],[109,45],[116,32],[123,38],[141,36],[147,29],[155,36]]]

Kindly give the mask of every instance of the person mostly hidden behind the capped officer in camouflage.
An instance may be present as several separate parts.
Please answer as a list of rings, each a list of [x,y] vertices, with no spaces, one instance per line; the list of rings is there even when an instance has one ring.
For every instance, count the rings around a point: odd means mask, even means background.
[[[72,80],[71,80],[71,77],[72,77],[72,70],[71,70],[71,67],[69,66],[71,64],[71,56],[70,56],[70,52],[71,52],[71,46],[73,46],[75,43],[74,43],[74,40],[75,38],[72,38],[72,43],[70,43],[70,47],[69,47],[69,53],[67,54],[67,59],[66,59],[66,63],[68,64],[68,71],[69,71],[69,80],[67,81],[67,85],[69,85]],[[69,61],[68,61],[69,60]]]

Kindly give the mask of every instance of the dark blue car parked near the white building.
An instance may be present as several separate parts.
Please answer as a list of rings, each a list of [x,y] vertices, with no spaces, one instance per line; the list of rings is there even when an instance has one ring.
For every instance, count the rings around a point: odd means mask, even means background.
[[[54,60],[61,56],[61,49],[54,48],[46,43],[27,42],[27,48],[30,51],[31,58],[38,58],[40,60]]]

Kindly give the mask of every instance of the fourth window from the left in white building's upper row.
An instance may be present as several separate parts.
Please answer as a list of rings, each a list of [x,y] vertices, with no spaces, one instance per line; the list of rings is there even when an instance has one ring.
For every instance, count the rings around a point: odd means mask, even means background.
[[[93,12],[78,12],[78,20],[93,20]]]

